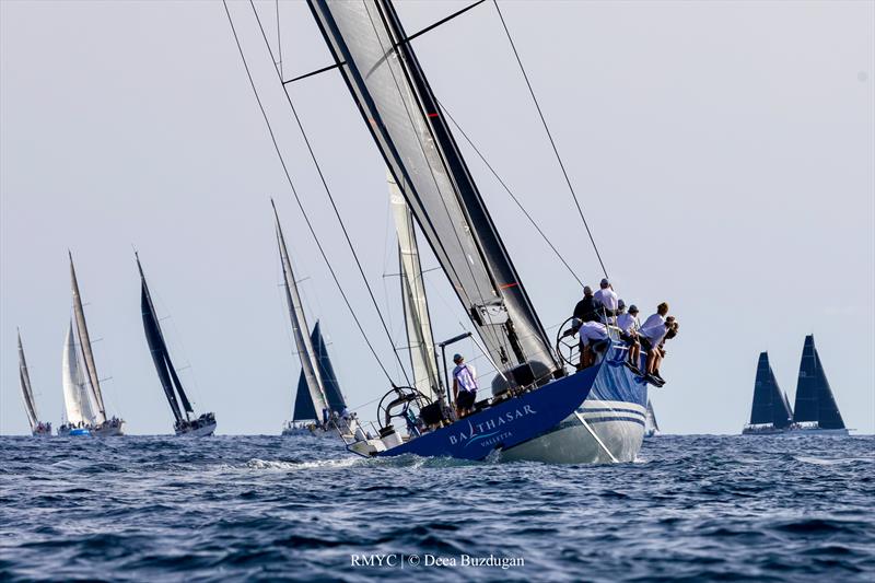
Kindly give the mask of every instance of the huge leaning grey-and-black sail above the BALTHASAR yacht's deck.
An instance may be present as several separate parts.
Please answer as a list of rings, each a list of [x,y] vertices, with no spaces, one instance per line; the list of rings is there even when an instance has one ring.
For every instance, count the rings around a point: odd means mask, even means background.
[[[388,0],[308,0],[386,164],[499,366],[559,369]],[[537,365],[536,365],[537,363]]]

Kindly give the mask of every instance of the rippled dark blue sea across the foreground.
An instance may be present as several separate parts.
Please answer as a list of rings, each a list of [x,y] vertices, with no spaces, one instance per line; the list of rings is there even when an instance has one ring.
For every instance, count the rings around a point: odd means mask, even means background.
[[[633,464],[365,460],[308,436],[0,438],[0,581],[875,580],[875,438]]]

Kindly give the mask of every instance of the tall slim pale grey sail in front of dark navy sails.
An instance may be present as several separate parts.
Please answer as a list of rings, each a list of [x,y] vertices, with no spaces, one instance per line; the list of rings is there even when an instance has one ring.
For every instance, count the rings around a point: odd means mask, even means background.
[[[307,335],[307,319],[304,315],[304,306],[301,303],[301,294],[298,291],[298,282],[294,279],[292,271],[292,263],[289,259],[289,250],[285,248],[285,238],[282,235],[282,226],[280,226],[280,217],[277,213],[277,207],[273,200],[270,201],[273,207],[273,218],[276,219],[277,226],[277,244],[280,248],[280,259],[282,260],[282,275],[285,288],[285,301],[289,305],[289,317],[292,320],[292,331],[294,333],[294,342],[298,347],[298,355],[301,359],[301,372],[307,384],[310,398],[313,401],[313,408],[318,416],[322,415],[323,409],[328,407],[328,399],[325,396],[325,385],[322,375],[319,374],[319,366],[315,359],[313,350],[313,342]]]

